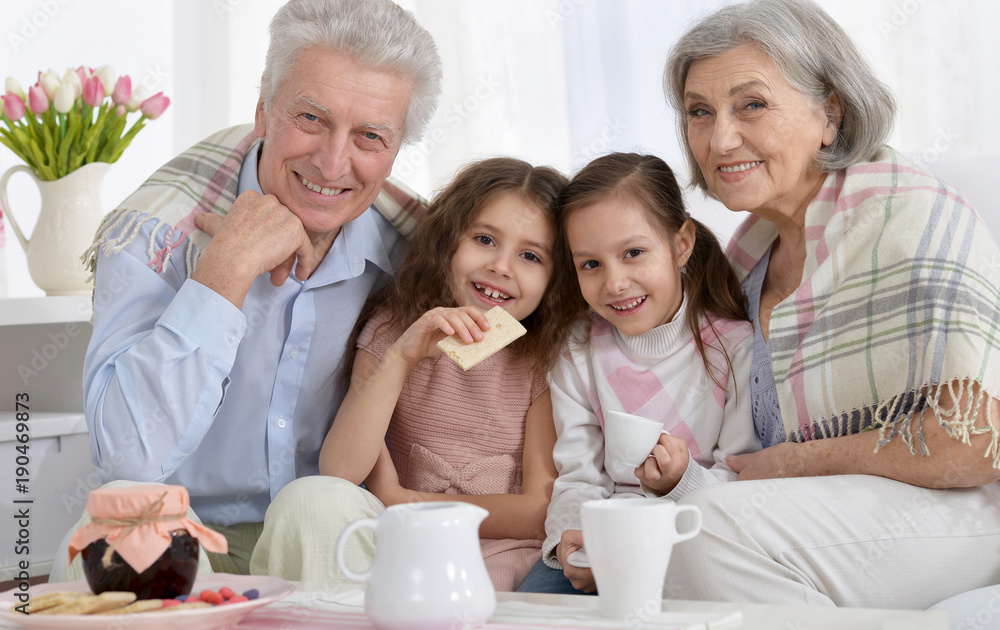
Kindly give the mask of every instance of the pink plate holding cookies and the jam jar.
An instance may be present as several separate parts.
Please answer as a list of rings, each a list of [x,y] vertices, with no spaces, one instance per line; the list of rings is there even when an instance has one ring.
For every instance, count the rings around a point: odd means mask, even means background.
[[[211,608],[195,608],[171,612],[133,613],[131,615],[23,615],[14,612],[13,606],[21,603],[16,590],[0,593],[0,620],[13,622],[29,630],[49,628],[73,628],[73,630],[121,630],[132,626],[142,630],[216,630],[232,628],[253,610],[287,597],[295,587],[280,578],[266,575],[231,575],[229,573],[206,573],[195,578],[191,593],[203,590],[218,591],[228,586],[236,593],[252,588],[260,592],[260,597],[239,604],[224,604]],[[31,587],[32,595],[42,595],[52,591],[88,591],[90,587],[83,580],[57,584],[39,584]],[[4,625],[7,625],[6,623]]]

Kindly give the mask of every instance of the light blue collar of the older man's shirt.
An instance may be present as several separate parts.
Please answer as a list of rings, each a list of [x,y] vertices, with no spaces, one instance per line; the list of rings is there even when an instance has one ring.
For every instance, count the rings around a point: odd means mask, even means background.
[[[263,146],[263,139],[258,139],[243,158],[236,187],[237,195],[247,190],[264,194],[257,177],[257,160]],[[389,230],[395,228],[388,225],[388,222],[380,222],[375,216],[377,212],[374,207],[369,207],[361,216],[340,229],[326,258],[307,284],[323,285],[359,276],[364,271],[362,261],[370,261],[385,273],[392,273],[392,262],[386,251],[383,232],[387,226]],[[330,264],[327,264],[328,261]],[[334,261],[336,264],[333,264]],[[295,280],[295,275],[292,274],[289,279]]]

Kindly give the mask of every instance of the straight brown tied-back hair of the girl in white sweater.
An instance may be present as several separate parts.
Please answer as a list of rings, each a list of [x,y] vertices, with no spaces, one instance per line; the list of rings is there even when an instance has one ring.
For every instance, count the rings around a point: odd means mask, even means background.
[[[612,153],[597,158],[577,173],[563,192],[560,203],[560,258],[565,261],[573,259],[566,240],[566,222],[569,217],[581,208],[609,198],[617,198],[641,208],[649,222],[666,237],[671,248],[673,237],[684,222],[691,221],[694,224],[694,248],[684,264],[684,273],[681,274],[681,286],[688,305],[686,323],[694,336],[705,369],[712,380],[717,385],[720,384],[705,354],[702,321],[713,331],[715,327],[709,314],[748,321],[746,296],[715,234],[701,222],[692,219],[684,209],[680,187],[673,171],[663,160],[654,155]],[[571,263],[567,270],[572,271],[573,276],[576,275]],[[587,303],[577,285],[568,316],[579,317],[587,309]],[[729,371],[732,371],[732,363],[725,348],[719,345],[715,349],[722,352]]]

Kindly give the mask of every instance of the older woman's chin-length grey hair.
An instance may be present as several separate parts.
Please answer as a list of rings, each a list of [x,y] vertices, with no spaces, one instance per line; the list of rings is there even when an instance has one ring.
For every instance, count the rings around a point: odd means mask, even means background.
[[[866,162],[892,132],[896,103],[847,33],[809,0],[753,0],[702,19],[674,44],[663,69],[663,91],[677,111],[677,131],[691,168],[691,185],[711,194],[687,135],[684,85],[691,63],[740,46],[768,55],[793,88],[821,106],[831,93],[843,110],[837,137],[816,154],[829,173]]]

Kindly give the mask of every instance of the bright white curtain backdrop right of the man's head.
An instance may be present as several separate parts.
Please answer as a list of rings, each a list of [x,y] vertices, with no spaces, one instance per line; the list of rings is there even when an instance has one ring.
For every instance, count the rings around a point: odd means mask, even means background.
[[[430,126],[442,132],[440,141],[425,138],[397,162],[397,175],[421,192],[439,189],[458,165],[494,154],[571,174],[609,151],[650,152],[686,179],[661,89],[663,62],[694,20],[734,0],[398,1],[434,35],[445,67],[445,92]],[[932,171],[957,173],[953,165],[981,163],[989,154],[996,164],[1000,3],[819,4],[895,92],[891,144]],[[495,90],[477,100],[484,81]],[[688,204],[723,241],[741,219],[698,192]]]

